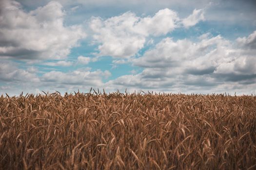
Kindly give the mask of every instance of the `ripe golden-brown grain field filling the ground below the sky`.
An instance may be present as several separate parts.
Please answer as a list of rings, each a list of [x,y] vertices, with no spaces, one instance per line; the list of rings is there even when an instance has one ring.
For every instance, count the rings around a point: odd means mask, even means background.
[[[256,169],[256,96],[0,97],[0,169]]]

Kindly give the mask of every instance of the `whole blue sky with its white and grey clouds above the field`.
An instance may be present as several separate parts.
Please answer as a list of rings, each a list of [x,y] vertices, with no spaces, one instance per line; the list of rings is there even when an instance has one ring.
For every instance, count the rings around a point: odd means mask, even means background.
[[[1,0],[0,95],[256,94],[255,0]]]

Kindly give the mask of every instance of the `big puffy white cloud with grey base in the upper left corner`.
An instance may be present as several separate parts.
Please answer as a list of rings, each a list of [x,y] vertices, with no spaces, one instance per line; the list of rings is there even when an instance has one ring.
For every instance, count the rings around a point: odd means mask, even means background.
[[[57,1],[26,12],[19,2],[0,2],[0,57],[62,59],[85,37],[81,26],[64,26]]]

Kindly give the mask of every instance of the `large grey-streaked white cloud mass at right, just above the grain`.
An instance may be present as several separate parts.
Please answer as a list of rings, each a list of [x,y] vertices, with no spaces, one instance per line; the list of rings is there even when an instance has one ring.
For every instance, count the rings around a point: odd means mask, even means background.
[[[199,36],[197,41],[164,38],[131,60],[133,65],[144,68],[142,72],[121,76],[107,85],[173,92],[244,92],[248,86],[247,93],[255,93],[256,56],[244,46],[254,42],[254,34],[238,38],[235,43],[210,34]]]

